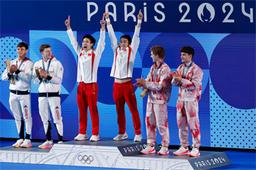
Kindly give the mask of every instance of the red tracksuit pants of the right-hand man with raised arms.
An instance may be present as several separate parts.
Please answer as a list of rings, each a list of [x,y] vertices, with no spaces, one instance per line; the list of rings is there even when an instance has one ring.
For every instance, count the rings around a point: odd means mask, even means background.
[[[135,128],[135,134],[141,134],[140,131],[140,115],[137,108],[137,100],[135,96],[135,90],[132,84],[132,80],[128,82],[118,83],[114,82],[113,85],[113,98],[116,103],[117,123],[119,132],[118,134],[124,134],[126,131],[126,119],[124,104],[127,102],[130,112],[132,113],[133,126]]]

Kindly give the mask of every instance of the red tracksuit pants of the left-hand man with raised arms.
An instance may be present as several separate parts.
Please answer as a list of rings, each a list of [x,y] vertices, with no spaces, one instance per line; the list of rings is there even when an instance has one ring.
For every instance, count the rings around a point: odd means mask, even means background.
[[[80,82],[78,85],[78,109],[79,109],[79,134],[86,134],[87,130],[87,109],[91,115],[92,135],[99,135],[99,113],[97,108],[98,85],[94,83]]]

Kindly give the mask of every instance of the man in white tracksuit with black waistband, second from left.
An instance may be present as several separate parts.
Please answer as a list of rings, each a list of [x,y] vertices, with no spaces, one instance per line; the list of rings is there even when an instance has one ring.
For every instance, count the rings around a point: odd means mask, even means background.
[[[63,123],[61,117],[60,93],[64,69],[61,62],[53,57],[50,45],[41,45],[39,50],[42,54],[42,60],[34,63],[33,82],[35,85],[39,84],[39,114],[45,128],[47,139],[45,143],[39,145],[39,148],[45,149],[53,147],[50,133],[50,112],[53,116],[53,123],[58,131],[58,143],[62,142]],[[39,77],[37,77],[36,67],[39,69]]]

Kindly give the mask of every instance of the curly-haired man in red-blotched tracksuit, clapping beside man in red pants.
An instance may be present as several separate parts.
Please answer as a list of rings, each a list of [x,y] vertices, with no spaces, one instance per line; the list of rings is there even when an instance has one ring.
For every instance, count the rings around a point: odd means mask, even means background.
[[[151,47],[151,58],[154,64],[146,80],[136,79],[135,86],[148,88],[148,103],[146,109],[146,131],[148,146],[141,153],[148,154],[156,152],[154,144],[157,139],[157,128],[162,135],[162,148],[159,155],[169,153],[170,143],[169,126],[167,123],[167,102],[170,100],[172,90],[172,72],[167,63],[164,62],[165,49],[159,45]]]

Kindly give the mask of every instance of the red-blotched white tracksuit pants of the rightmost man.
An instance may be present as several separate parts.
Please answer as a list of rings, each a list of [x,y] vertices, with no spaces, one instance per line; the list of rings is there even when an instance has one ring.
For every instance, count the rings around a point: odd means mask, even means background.
[[[187,125],[189,125],[193,141],[192,147],[196,147],[198,149],[201,144],[201,134],[197,101],[177,101],[177,123],[181,146],[189,146],[189,130],[187,127]]]

